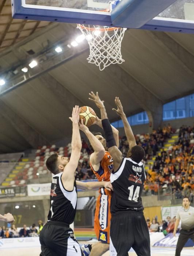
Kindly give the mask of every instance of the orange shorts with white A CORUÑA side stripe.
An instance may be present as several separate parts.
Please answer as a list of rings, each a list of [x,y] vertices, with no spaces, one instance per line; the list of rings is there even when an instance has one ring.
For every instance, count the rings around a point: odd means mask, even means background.
[[[110,244],[111,196],[99,195],[96,201],[94,230],[98,241]]]

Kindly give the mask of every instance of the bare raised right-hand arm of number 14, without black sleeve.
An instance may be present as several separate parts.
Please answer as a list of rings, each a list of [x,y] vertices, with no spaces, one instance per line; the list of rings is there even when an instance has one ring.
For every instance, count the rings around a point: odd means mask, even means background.
[[[136,146],[136,139],[133,135],[133,131],[132,128],[129,125],[129,122],[126,118],[125,113],[123,112],[123,106],[121,104],[121,101],[119,99],[119,97],[115,98],[115,104],[117,105],[117,109],[113,109],[122,119],[123,121],[123,125],[124,125],[124,129],[125,129],[125,134],[129,143],[129,148],[131,149],[132,147]]]

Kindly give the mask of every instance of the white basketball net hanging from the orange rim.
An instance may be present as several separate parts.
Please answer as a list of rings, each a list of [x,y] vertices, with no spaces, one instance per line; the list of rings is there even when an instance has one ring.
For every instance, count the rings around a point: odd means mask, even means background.
[[[126,28],[103,27],[95,25],[77,24],[90,46],[88,63],[95,64],[102,71],[110,64],[123,63],[121,55],[121,42]]]

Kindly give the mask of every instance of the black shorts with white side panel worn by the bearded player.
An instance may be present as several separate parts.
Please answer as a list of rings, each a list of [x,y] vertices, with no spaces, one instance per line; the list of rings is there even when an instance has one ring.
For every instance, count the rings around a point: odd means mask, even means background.
[[[73,230],[63,222],[47,222],[39,239],[40,256],[84,256]]]

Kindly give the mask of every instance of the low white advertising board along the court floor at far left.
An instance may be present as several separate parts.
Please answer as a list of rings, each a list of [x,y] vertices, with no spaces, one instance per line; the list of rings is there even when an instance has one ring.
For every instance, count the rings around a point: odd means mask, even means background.
[[[39,242],[39,237],[18,237],[0,239],[0,250],[23,247],[30,248],[35,246],[41,246]]]

